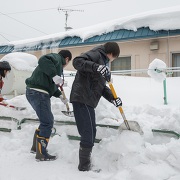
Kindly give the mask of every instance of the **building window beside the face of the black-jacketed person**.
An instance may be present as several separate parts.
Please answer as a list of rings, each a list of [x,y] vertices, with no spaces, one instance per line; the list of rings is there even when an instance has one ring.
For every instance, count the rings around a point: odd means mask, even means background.
[[[131,70],[131,56],[118,57],[111,63],[111,71]]]

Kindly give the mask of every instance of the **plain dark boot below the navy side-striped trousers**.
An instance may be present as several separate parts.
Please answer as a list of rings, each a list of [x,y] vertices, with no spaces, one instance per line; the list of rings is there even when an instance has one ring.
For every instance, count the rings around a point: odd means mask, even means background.
[[[79,148],[79,171],[91,170],[91,152],[92,148]]]

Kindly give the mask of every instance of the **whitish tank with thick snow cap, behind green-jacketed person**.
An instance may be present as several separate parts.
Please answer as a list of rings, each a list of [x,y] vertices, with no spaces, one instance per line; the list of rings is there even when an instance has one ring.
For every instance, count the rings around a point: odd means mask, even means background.
[[[3,79],[4,86],[1,93],[14,96],[24,94],[26,90],[25,80],[31,76],[38,63],[36,56],[15,52],[5,55],[0,61],[8,61],[11,65],[10,73]]]

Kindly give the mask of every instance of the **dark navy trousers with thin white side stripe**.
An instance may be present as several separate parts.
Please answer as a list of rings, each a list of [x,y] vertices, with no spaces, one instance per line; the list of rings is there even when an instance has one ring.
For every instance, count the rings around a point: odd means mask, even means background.
[[[73,102],[72,105],[77,129],[81,136],[80,145],[85,148],[93,147],[96,137],[94,108],[79,102]]]

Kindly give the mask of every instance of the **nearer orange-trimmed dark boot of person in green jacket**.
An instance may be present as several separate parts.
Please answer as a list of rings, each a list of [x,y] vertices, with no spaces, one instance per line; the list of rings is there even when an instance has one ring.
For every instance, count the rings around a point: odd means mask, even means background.
[[[36,159],[38,161],[54,161],[57,159],[56,156],[51,156],[47,153],[47,145],[49,139],[37,135],[36,139]]]

